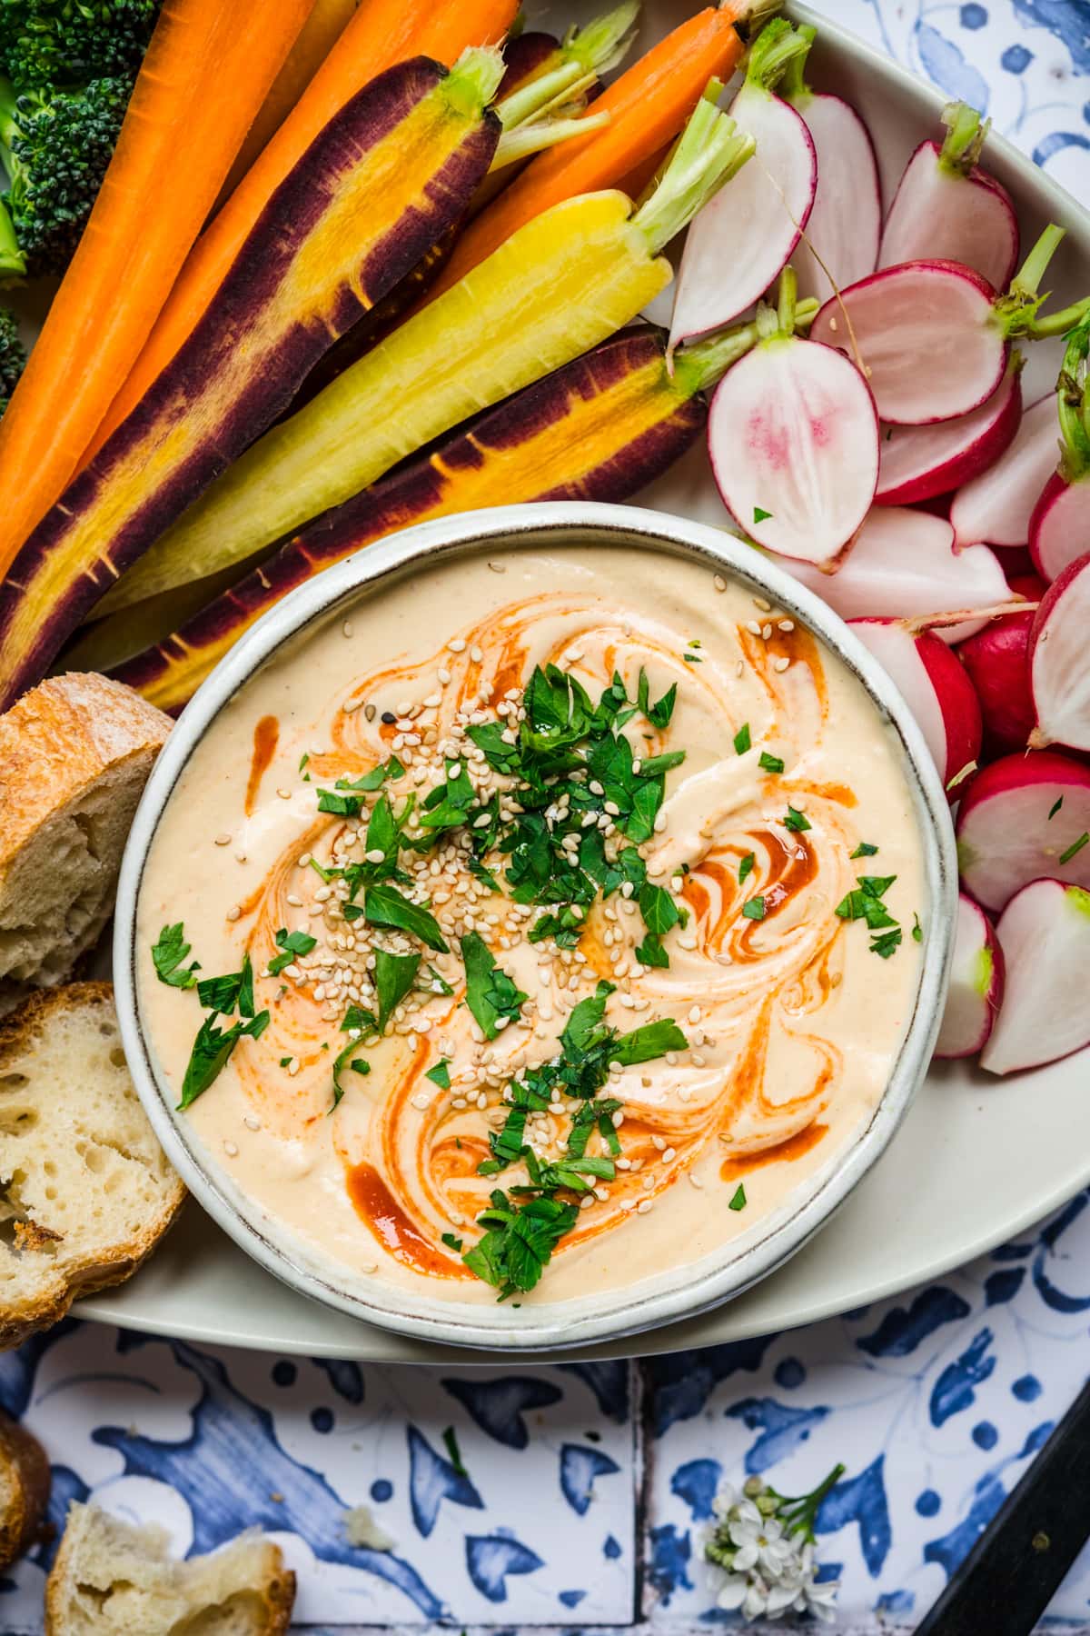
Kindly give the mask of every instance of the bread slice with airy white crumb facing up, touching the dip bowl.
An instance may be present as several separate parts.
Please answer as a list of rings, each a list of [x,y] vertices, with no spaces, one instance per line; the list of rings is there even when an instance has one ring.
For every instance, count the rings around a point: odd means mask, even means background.
[[[183,1199],[109,983],[44,990],[0,1022],[0,1346],[134,1273]]]

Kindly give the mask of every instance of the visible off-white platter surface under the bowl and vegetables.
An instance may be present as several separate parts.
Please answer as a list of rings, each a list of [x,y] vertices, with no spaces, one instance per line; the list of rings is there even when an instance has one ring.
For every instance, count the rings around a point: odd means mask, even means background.
[[[644,44],[695,8],[647,0]],[[562,25],[601,10],[556,7]],[[811,79],[847,95],[876,139],[886,198],[917,142],[938,126],[943,98],[879,52],[806,7],[791,15],[819,28]],[[547,26],[549,15],[534,15]],[[989,169],[1020,208],[1023,244],[1049,221],[1067,227],[1049,283],[1057,299],[1090,288],[1090,214],[1002,139]],[[1048,389],[1056,352],[1026,370],[1026,401]],[[701,448],[642,494],[641,504],[726,524]],[[974,1067],[938,1065],[905,1124],[840,1214],[788,1266],[717,1310],[632,1340],[570,1356],[621,1356],[709,1346],[850,1310],[928,1278],[1016,1235],[1090,1181],[1090,1054],[1033,1073],[992,1080]],[[511,1353],[413,1342],[294,1294],[255,1266],[190,1204],[159,1255],[116,1291],[85,1301],[82,1317],[188,1340],[381,1361],[492,1363]]]

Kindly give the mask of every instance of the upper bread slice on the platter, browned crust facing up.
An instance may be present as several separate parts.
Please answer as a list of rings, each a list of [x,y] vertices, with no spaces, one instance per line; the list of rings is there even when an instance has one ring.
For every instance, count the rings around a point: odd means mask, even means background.
[[[170,718],[105,676],[54,676],[0,715],[0,1009],[72,975],[109,918]]]

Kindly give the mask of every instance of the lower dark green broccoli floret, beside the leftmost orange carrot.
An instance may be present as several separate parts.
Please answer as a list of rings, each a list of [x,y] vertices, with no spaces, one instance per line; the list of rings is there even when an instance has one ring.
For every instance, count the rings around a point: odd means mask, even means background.
[[[64,273],[114,151],[132,82],[92,80],[72,92],[16,95],[0,80],[3,203],[31,276]]]

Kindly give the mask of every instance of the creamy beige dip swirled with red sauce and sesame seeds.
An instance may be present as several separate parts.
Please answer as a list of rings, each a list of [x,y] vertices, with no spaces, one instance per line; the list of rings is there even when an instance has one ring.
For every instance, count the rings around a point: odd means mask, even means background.
[[[593,703],[614,672],[632,702],[641,669],[652,703],[677,684],[668,725],[636,708],[621,726],[636,757],[685,751],[639,846],[649,880],[685,911],[686,923],[662,934],[668,965],[639,962],[647,928],[619,890],[588,908],[577,947],[529,941],[546,908],[511,901],[500,852],[484,861],[500,892],[471,874],[469,841],[456,833],[431,852],[404,854],[412,883],[399,888],[427,898],[449,952],[346,923],[346,887],[324,880],[310,859],[327,872],[364,862],[379,793],[361,797],[356,820],[320,813],[319,789],[395,756],[404,775],[382,790],[395,808],[415,792],[418,811],[459,756],[487,798],[505,780],[467,726],[497,723],[513,739],[523,689],[546,663],[577,677]],[[606,854],[628,844],[608,811],[588,826]],[[860,854],[861,843],[878,852]],[[896,877],[878,888],[899,941],[882,931],[881,910],[876,928],[837,915],[863,890],[860,877]],[[477,1171],[490,1132],[508,1119],[511,1078],[554,1058],[572,1008],[601,978],[614,985],[605,1021],[619,1032],[673,1018],[685,1049],[610,1072],[601,1094],[619,1103],[616,1139],[595,1127],[585,1152],[608,1158],[613,1148],[614,1176],[592,1178],[536,1291],[516,1297],[562,1301],[691,1263],[837,1163],[904,1040],[923,906],[897,741],[835,654],[691,560],[511,548],[384,581],[221,712],[144,872],[139,1005],[162,1076],[180,1093],[208,1011],[196,990],[157,978],[152,944],[181,921],[201,977],[237,972],[248,952],[255,1005],[270,1022],[260,1039],[239,1040],[181,1117],[324,1261],[456,1302],[497,1299],[458,1243],[479,1240],[476,1217],[494,1188],[526,1181],[523,1162]],[[266,975],[281,954],[276,934],[293,931],[314,949]],[[464,1005],[459,941],[472,931],[528,996],[495,1039]],[[873,947],[882,936],[887,957]],[[422,952],[423,987],[376,1044],[373,1029],[346,1036],[342,1022],[353,1005],[374,1009],[379,947]],[[333,1109],[332,1063],[353,1039]],[[440,1063],[449,1088],[427,1076]],[[564,1155],[574,1111],[561,1098],[531,1114],[526,1140],[543,1162]]]

